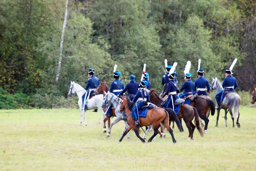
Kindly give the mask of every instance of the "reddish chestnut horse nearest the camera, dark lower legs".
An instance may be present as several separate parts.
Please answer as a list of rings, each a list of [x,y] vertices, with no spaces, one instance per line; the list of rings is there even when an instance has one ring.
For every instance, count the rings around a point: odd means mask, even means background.
[[[126,99],[122,97],[122,102],[121,102],[121,107],[120,110],[123,111],[125,110],[126,113],[131,113],[132,107],[134,106],[134,103],[132,101],[130,101],[130,99]],[[148,142],[151,142],[152,139],[157,135],[157,133],[159,133],[158,128],[160,123],[162,123],[164,125],[164,127],[169,131],[169,133],[172,136],[172,142],[175,143],[176,140],[174,138],[173,135],[173,130],[170,128],[169,126],[169,117],[168,117],[168,113],[166,112],[166,110],[163,110],[161,108],[153,108],[148,110],[147,115],[145,118],[140,117],[140,126],[150,126],[152,125],[153,129],[154,129],[154,134],[153,136],[151,136],[148,139]],[[143,138],[140,137],[139,134],[139,128],[135,127],[135,122],[134,120],[131,118],[131,114],[128,115],[128,128],[125,130],[125,132],[123,133],[121,139],[119,140],[119,142],[122,141],[122,139],[124,138],[124,136],[131,130],[133,129],[136,136],[142,141],[145,142],[145,140]]]

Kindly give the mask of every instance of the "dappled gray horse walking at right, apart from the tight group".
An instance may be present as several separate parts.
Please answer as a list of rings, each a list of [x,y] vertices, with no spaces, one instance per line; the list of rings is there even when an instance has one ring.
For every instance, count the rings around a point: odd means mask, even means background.
[[[223,90],[222,84],[220,81],[218,81],[217,78],[212,78],[212,86],[211,86],[211,90],[216,90],[217,92]],[[227,93],[225,98],[223,99],[223,101],[221,102],[221,109],[225,110],[225,121],[226,121],[226,127],[227,127],[227,112],[230,112],[230,115],[232,116],[232,120],[233,120],[233,127],[235,127],[234,125],[234,119],[237,118],[236,121],[236,126],[238,128],[240,128],[240,124],[238,122],[239,120],[239,106],[241,104],[241,98],[240,96],[235,93],[235,92],[230,92]],[[232,109],[234,107],[234,112],[232,112]],[[220,115],[220,110],[217,110],[217,122],[216,122],[216,127],[218,126],[218,118]]]

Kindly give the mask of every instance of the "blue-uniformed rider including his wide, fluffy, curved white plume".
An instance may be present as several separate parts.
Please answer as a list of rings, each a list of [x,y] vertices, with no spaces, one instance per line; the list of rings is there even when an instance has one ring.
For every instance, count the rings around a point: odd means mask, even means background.
[[[184,93],[181,93],[179,95],[179,98],[186,98],[187,96],[191,95],[194,90],[195,90],[195,84],[194,82],[191,80],[191,73],[189,72],[191,68],[191,62],[187,61],[185,70],[184,70],[184,74],[185,74],[185,83],[180,87],[180,91],[184,90]]]

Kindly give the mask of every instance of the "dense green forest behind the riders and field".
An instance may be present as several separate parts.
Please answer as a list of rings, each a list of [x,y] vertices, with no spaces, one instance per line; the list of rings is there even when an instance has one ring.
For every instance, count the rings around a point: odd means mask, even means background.
[[[234,58],[237,90],[250,98],[256,84],[255,0],[0,1],[0,109],[78,107],[67,98],[70,81],[85,86],[89,68],[113,81],[113,66],[127,84],[147,64],[151,87],[162,90],[164,59],[177,62],[179,87],[186,61],[197,78],[224,79]],[[105,76],[104,76],[105,75]],[[104,76],[104,78],[103,78]],[[248,99],[247,99],[248,100]],[[248,100],[249,103],[249,100]]]

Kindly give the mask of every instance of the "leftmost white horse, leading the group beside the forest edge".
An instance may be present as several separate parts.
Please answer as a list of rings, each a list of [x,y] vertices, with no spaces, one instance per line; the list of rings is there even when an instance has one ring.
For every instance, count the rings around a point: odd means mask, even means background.
[[[82,96],[84,95],[85,92],[86,92],[86,90],[81,85],[75,83],[74,81],[71,81],[68,96],[72,97],[74,94],[77,94],[77,96],[79,98],[77,103],[78,103],[79,108],[81,110],[79,125],[82,125],[82,117],[83,117],[84,118],[84,125],[87,126],[87,123],[85,121],[85,114],[84,114],[86,112],[86,110],[85,111],[83,110],[83,102],[82,102]],[[87,101],[87,110],[94,110],[94,109],[98,108],[103,113],[103,118],[102,118],[102,120],[103,120],[105,116],[104,116],[104,111],[102,110],[102,106],[101,106],[102,101],[103,101],[103,95],[102,94],[96,95],[96,96],[92,97],[91,99],[88,99],[88,101]],[[102,124],[103,124],[103,122],[102,122]]]

